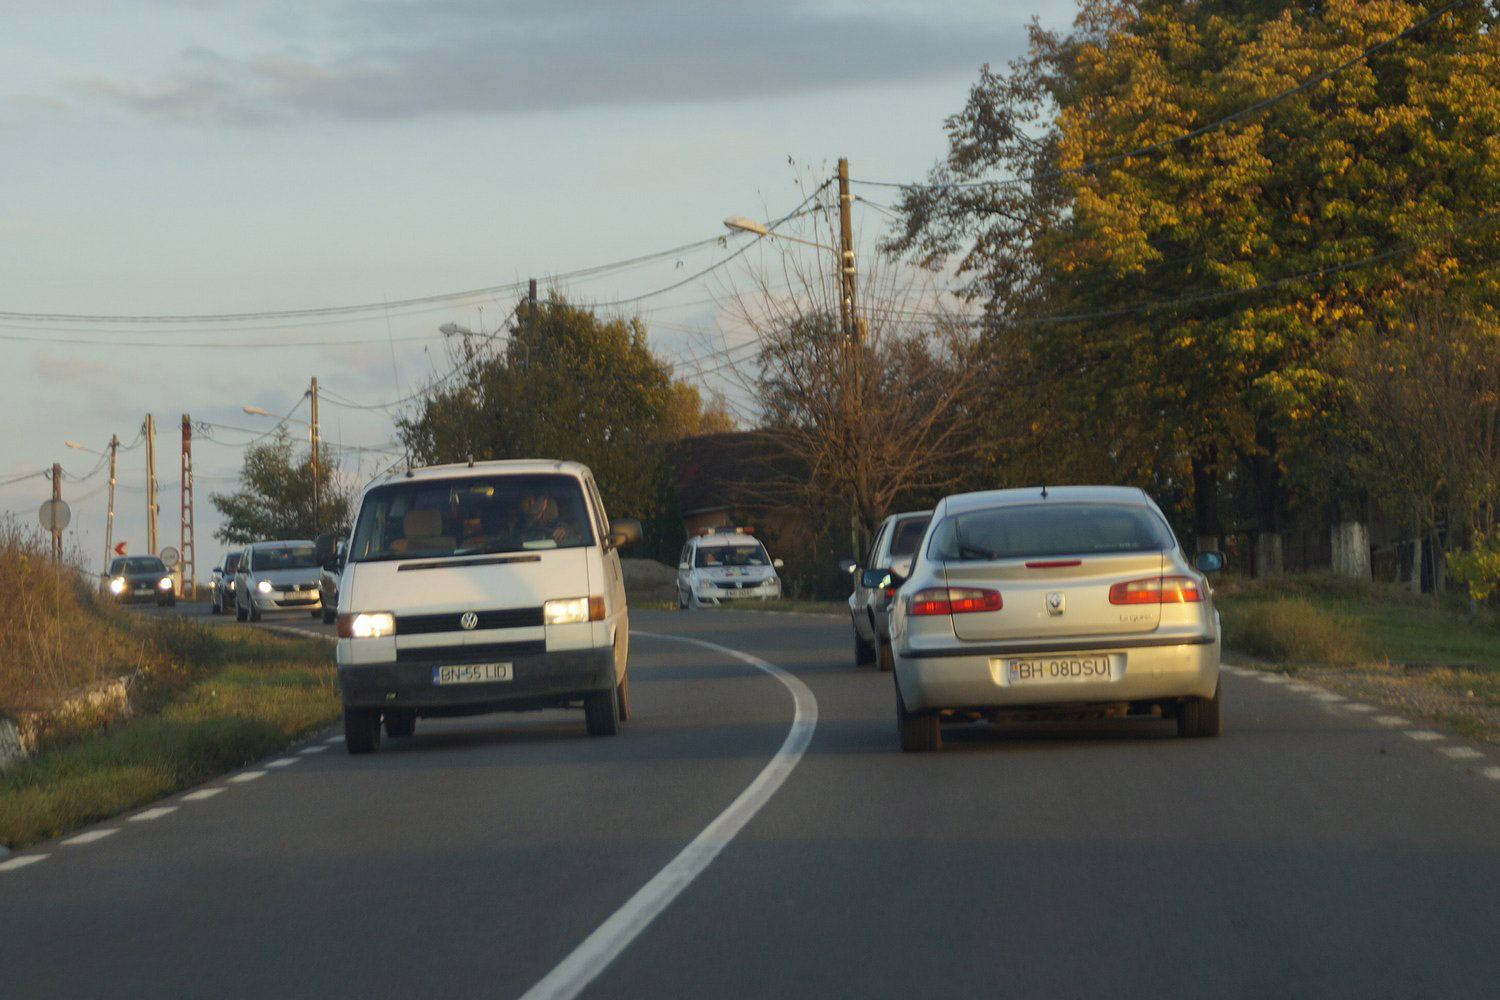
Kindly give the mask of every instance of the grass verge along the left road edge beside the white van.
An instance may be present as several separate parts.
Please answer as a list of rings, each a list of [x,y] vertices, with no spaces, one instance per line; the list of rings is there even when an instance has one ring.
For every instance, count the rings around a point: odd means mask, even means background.
[[[138,715],[0,774],[0,844],[27,847],[266,757],[339,714],[327,643],[177,624],[192,648]]]

